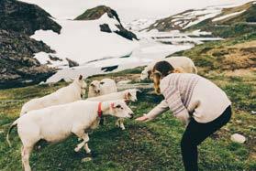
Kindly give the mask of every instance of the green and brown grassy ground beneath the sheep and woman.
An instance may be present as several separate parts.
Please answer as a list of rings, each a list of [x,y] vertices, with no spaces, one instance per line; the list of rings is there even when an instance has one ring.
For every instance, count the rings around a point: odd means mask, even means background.
[[[250,113],[256,109],[255,39],[251,34],[209,42],[180,53],[194,59],[199,74],[217,83],[233,102],[231,122],[199,147],[200,170],[256,170],[256,115]],[[110,77],[138,82],[141,69],[95,76],[87,81]],[[21,143],[17,131],[11,134],[12,148],[6,144],[6,131],[9,123],[18,117],[22,104],[65,85],[67,83],[60,82],[0,91],[0,170],[21,170]],[[143,91],[139,102],[130,104],[136,116],[149,112],[161,101],[152,89]],[[42,144],[31,156],[30,165],[33,170],[54,171],[184,170],[180,152],[184,127],[172,113],[166,112],[150,123],[128,120],[126,127],[126,131],[117,129],[114,118],[109,118],[104,126],[90,134],[92,161],[82,162],[87,155],[73,151],[78,142],[72,136],[60,144]],[[246,143],[232,143],[230,135],[235,133],[245,135]]]

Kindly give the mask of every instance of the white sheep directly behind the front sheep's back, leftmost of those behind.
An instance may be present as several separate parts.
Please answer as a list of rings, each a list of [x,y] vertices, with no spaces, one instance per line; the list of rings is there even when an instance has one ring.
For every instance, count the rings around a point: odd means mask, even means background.
[[[83,80],[83,76],[80,75],[79,78],[73,80],[70,85],[44,97],[26,102],[21,108],[20,116],[32,110],[39,110],[49,106],[79,101],[82,99],[83,95],[85,95],[85,89],[86,83]]]

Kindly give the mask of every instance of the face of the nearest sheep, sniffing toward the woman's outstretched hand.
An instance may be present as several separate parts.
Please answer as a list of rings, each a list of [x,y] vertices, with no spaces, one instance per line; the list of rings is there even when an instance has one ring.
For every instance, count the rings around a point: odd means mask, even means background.
[[[113,116],[116,116],[118,118],[132,118],[133,117],[133,112],[131,109],[128,107],[126,102],[124,101],[117,101],[117,102],[112,102],[110,104],[110,113]]]

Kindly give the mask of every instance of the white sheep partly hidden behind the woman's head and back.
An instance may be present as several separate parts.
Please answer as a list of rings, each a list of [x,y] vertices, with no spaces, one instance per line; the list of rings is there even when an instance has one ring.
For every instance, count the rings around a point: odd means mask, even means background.
[[[192,61],[192,59],[187,57],[171,57],[161,60],[169,62],[173,68],[179,69],[181,72],[197,74],[195,63]],[[150,79],[151,70],[153,69],[154,65],[161,60],[151,62],[144,70],[142,70],[140,80]]]

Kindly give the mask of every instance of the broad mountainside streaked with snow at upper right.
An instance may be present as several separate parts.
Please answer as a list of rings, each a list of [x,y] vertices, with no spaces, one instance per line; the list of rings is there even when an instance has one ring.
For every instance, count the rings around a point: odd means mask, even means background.
[[[157,20],[145,30],[192,31],[201,29],[215,37],[236,37],[256,30],[255,1],[235,7],[209,6],[190,9],[174,16]]]

